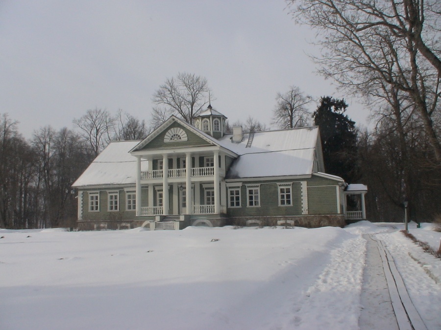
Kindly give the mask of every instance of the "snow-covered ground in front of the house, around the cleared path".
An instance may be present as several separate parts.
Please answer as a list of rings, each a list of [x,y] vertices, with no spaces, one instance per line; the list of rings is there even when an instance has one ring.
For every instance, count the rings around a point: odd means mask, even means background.
[[[359,329],[363,233],[386,243],[427,328],[441,329],[441,261],[390,225],[0,229],[0,329]]]

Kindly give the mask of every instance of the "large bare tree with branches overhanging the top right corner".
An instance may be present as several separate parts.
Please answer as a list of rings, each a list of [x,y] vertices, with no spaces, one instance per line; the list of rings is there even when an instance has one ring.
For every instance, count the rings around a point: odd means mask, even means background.
[[[320,72],[366,95],[378,82],[407,93],[435,159],[441,143],[434,127],[440,107],[439,2],[428,0],[290,0],[297,22],[317,29]],[[438,6],[438,7],[437,7]],[[438,9],[436,9],[438,8]],[[374,94],[374,93],[373,93]]]

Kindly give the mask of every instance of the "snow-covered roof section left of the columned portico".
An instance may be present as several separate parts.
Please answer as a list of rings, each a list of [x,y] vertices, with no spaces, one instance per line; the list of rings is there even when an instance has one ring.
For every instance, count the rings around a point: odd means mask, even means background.
[[[73,187],[105,184],[135,184],[136,158],[128,153],[140,141],[111,142],[98,154]],[[141,170],[147,170],[147,160],[141,161]]]

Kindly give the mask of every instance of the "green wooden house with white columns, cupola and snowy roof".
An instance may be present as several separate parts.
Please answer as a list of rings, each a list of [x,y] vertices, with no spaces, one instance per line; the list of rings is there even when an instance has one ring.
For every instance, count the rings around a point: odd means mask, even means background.
[[[142,141],[110,143],[73,184],[78,229],[366,219],[367,187],[325,173],[318,127],[227,134],[225,120],[209,106],[195,126],[172,116]],[[346,210],[347,195],[360,210]]]

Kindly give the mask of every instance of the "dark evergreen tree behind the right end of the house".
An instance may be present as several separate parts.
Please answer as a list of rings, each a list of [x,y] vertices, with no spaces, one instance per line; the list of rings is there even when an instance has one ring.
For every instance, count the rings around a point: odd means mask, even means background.
[[[344,99],[323,96],[313,118],[319,126],[326,173],[353,183],[358,178],[357,132],[355,122],[344,114],[347,107]]]

